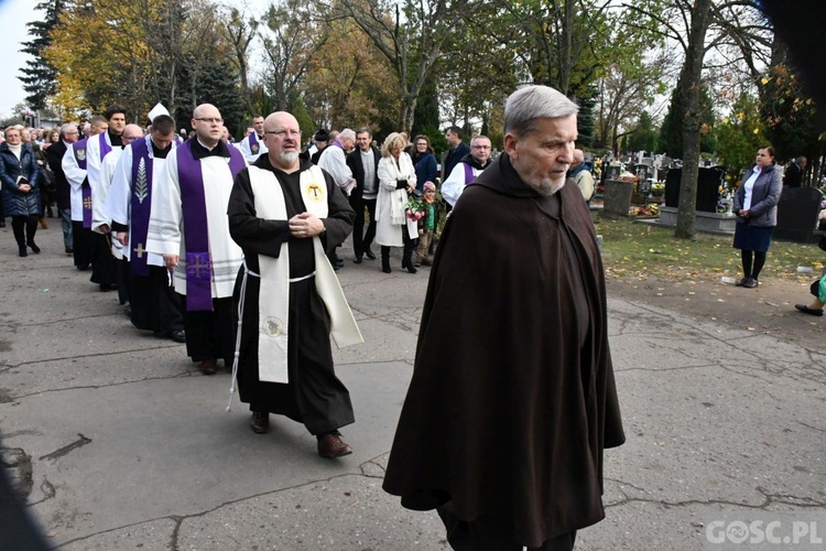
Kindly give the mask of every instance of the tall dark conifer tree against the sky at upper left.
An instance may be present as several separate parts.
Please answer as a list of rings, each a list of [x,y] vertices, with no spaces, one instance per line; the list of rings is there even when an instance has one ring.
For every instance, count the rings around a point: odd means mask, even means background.
[[[26,101],[32,109],[46,107],[46,99],[55,93],[57,84],[57,72],[46,63],[43,52],[52,44],[50,33],[57,25],[57,21],[67,9],[68,0],[46,0],[40,2],[35,10],[45,12],[41,21],[26,23],[29,28],[28,42],[22,44],[21,52],[32,56],[26,66],[20,69],[22,76],[18,78],[23,83],[23,89],[29,94]]]

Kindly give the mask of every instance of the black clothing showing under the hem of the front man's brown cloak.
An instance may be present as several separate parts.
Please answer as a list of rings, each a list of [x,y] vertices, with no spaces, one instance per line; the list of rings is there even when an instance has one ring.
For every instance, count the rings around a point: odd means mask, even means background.
[[[456,551],[522,551],[523,544],[513,541],[512,522],[502,516],[486,515],[471,522],[456,516],[453,501],[436,508],[447,529],[447,542]],[[541,547],[528,548],[541,551],[572,551],[576,530],[543,542]]]

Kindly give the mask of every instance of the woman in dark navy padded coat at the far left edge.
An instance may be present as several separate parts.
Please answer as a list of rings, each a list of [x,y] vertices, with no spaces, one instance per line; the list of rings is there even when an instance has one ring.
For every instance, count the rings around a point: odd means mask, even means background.
[[[20,130],[6,129],[6,141],[0,143],[0,183],[6,216],[11,216],[11,227],[21,257],[26,257],[26,245],[40,252],[34,244],[37,218],[41,216],[37,161],[32,147],[22,143]]]

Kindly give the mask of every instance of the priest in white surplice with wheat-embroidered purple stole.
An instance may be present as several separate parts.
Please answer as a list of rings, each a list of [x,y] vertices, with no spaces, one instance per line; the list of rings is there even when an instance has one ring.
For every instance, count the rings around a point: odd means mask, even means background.
[[[160,106],[160,107],[159,107]],[[163,257],[146,251],[152,191],[166,156],[177,145],[175,121],[160,104],[150,111],[150,133],[123,149],[106,198],[111,229],[126,252],[132,325],[176,343],[186,342],[182,302]],[[130,125],[132,126],[132,125]],[[123,131],[127,136],[130,126]],[[110,155],[111,156],[111,155]],[[109,156],[107,156],[107,163]]]

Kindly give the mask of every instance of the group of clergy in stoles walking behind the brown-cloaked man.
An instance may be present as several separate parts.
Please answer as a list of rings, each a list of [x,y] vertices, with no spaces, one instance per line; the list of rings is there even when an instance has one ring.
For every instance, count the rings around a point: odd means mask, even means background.
[[[338,429],[352,404],[329,335],[339,347],[362,337],[326,257],[352,230],[347,197],[300,158],[290,114],[270,115],[267,132],[257,117],[238,145],[208,104],[186,141],[160,104],[149,120],[144,136],[112,106],[67,144],[75,266],[118,289],[135,327],[185,342],[204,375],[222,360],[254,432],[283,414],[316,435],[323,457],[350,454]]]

